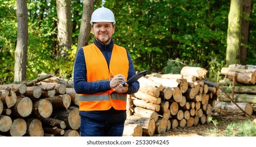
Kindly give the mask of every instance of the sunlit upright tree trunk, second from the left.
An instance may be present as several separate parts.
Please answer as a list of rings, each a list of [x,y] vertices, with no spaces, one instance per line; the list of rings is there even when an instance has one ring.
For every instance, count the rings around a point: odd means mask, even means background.
[[[71,8],[70,0],[57,0],[58,15],[58,43],[59,55],[67,57],[66,49],[71,49],[72,44],[72,25],[71,25]],[[58,54],[57,54],[58,55]],[[56,57],[58,58],[58,57]]]

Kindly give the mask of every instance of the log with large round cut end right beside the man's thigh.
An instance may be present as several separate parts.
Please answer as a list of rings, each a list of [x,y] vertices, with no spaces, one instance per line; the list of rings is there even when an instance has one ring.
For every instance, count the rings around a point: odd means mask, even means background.
[[[79,116],[79,108],[70,106],[68,110],[59,110],[52,113],[52,117],[63,120],[67,125],[67,129],[78,130],[80,128],[81,118]]]

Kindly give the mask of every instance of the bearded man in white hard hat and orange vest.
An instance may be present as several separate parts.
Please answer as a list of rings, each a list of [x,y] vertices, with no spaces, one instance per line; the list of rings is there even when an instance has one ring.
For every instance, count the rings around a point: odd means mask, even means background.
[[[122,83],[136,75],[128,51],[111,39],[115,17],[108,8],[92,13],[93,44],[78,51],[74,66],[74,89],[79,94],[81,136],[122,136],[127,95],[139,90],[139,82]]]

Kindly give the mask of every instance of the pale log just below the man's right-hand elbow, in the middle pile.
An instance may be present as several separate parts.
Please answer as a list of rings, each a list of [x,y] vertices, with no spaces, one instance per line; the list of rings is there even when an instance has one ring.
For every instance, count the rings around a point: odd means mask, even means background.
[[[136,98],[144,100],[146,102],[155,103],[155,104],[161,103],[161,98],[153,97],[143,91],[138,91],[138,92],[134,93],[134,96]]]

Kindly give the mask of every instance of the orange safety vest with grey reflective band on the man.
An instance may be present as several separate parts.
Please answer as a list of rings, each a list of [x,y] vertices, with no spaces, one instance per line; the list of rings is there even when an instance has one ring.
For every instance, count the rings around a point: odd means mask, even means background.
[[[100,49],[94,45],[83,47],[84,58],[86,59],[87,81],[100,82],[110,81],[110,77],[122,74],[128,77],[129,61],[126,49],[114,44],[108,64]],[[79,95],[79,110],[108,110],[111,107],[116,110],[126,110],[127,95],[122,93],[111,94],[114,88],[94,94]]]

